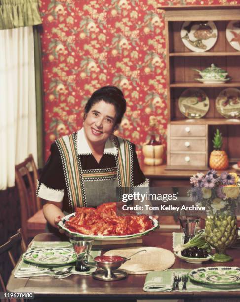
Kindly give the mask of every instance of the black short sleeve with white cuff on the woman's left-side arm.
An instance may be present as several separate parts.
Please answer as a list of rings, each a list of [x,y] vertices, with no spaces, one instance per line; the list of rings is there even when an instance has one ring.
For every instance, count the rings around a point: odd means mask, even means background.
[[[61,202],[66,189],[63,165],[56,143],[51,145],[51,154],[43,168],[37,187],[37,196],[49,201]]]

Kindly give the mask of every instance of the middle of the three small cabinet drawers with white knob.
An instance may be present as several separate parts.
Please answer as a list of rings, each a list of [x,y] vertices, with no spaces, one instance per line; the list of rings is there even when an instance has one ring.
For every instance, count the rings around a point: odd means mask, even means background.
[[[171,139],[170,151],[206,151],[206,139]]]

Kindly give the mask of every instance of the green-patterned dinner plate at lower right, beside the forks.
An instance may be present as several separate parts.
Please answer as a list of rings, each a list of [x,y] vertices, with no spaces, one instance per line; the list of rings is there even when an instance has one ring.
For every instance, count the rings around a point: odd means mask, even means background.
[[[188,274],[194,281],[215,288],[232,288],[240,286],[239,267],[201,267]]]

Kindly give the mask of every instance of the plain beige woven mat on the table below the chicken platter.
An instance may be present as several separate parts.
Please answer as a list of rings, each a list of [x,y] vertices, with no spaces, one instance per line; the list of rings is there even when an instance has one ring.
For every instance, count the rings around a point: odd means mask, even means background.
[[[129,257],[132,254],[146,250],[131,257],[120,266],[129,274],[147,274],[149,271],[165,270],[171,267],[175,262],[174,254],[166,249],[156,247],[138,247],[138,248],[122,248],[106,252],[104,255],[119,255]]]

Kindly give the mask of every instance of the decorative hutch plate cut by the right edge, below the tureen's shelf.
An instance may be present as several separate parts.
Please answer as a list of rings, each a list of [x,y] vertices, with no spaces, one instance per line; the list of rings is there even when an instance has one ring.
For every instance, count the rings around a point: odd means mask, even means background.
[[[240,117],[240,90],[226,88],[216,98],[217,111],[226,118]]]

